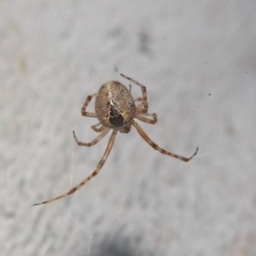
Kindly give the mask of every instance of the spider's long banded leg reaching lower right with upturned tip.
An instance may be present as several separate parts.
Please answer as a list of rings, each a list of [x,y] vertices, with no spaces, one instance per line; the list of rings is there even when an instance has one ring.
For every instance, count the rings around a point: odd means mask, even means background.
[[[132,121],[132,125],[137,129],[138,133],[141,135],[141,137],[143,137],[143,139],[152,147],[154,148],[155,150],[159,151],[160,153],[162,154],[167,154],[167,155],[170,155],[172,157],[175,157],[179,160],[183,160],[185,162],[188,162],[189,160],[191,160],[195,154],[197,154],[197,150],[198,150],[198,147],[195,149],[195,153],[192,154],[189,158],[186,158],[186,157],[183,157],[183,156],[180,156],[180,155],[177,155],[177,154],[173,154],[171,152],[168,152],[166,151],[165,149],[163,148],[160,148],[158,145],[156,145],[149,137],[148,135],[145,133],[145,131],[143,131],[143,128],[137,124],[137,122],[135,121]]]

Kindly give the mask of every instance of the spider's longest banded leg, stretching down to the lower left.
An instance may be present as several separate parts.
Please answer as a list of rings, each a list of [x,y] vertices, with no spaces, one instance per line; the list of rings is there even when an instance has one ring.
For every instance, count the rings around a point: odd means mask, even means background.
[[[89,177],[86,177],[81,183],[79,183],[73,189],[70,189],[66,194],[57,196],[57,197],[55,197],[53,199],[50,199],[48,201],[43,201],[43,202],[40,202],[40,203],[33,204],[33,206],[46,204],[46,203],[49,203],[51,201],[56,201],[58,199],[61,199],[63,197],[67,197],[68,195],[72,195],[75,191],[80,189],[85,183],[88,183],[92,177],[95,177],[98,174],[98,172],[100,172],[100,170],[102,169],[102,166],[104,165],[104,163],[108,159],[108,155],[109,155],[111,149],[113,148],[113,143],[114,143],[114,139],[116,137],[117,132],[118,131],[113,131],[112,132],[112,135],[111,135],[111,137],[109,139],[109,142],[108,142],[108,147],[106,148],[105,153],[102,156],[102,160],[100,160],[100,162],[98,163],[98,165],[96,167],[96,170],[94,172],[92,172]]]

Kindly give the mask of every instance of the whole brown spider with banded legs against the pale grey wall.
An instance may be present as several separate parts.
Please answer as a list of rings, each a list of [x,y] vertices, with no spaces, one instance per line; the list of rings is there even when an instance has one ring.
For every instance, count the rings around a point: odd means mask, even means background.
[[[93,140],[91,143],[82,143],[77,139],[75,132],[73,131],[73,137],[75,141],[79,144],[79,146],[91,147],[94,146],[99,141],[101,141],[102,138],[108,134],[108,131],[113,130],[108,142],[108,146],[105,150],[105,153],[102,156],[102,160],[100,160],[100,162],[98,163],[96,170],[92,172],[89,177],[86,177],[81,183],[75,186],[73,189],[70,189],[66,194],[57,196],[48,201],[36,203],[34,204],[34,206],[46,204],[51,201],[61,199],[63,197],[67,197],[68,195],[72,195],[75,191],[80,189],[85,183],[88,183],[92,177],[95,177],[98,174],[98,172],[100,172],[102,166],[108,159],[108,155],[110,154],[110,151],[113,148],[114,139],[118,131],[120,131],[121,133],[128,133],[129,131],[131,131],[131,126],[136,128],[141,137],[143,137],[143,139],[152,148],[158,150],[162,154],[170,155],[185,162],[188,162],[195,156],[195,154],[197,154],[198,147],[195,149],[195,153],[192,154],[192,156],[190,156],[189,158],[173,154],[171,152],[166,151],[163,148],[160,148],[148,137],[145,131],[143,131],[142,127],[138,125],[137,122],[134,120],[139,119],[151,125],[154,125],[157,122],[156,114],[148,113],[146,86],[138,83],[134,79],[126,77],[122,73],[120,73],[120,75],[125,79],[128,79],[131,82],[140,86],[143,93],[143,97],[133,99],[133,97],[131,96],[131,86],[130,90],[128,90],[124,84],[120,84],[119,82],[110,81],[106,84],[103,84],[97,93],[87,97],[86,101],[84,102],[84,107],[82,108],[83,116],[97,118],[99,120],[99,123],[97,125],[92,125],[91,129],[96,132],[101,132],[100,135],[96,137],[96,139]],[[86,112],[86,108],[93,97],[96,97],[96,113]],[[139,103],[136,105],[135,102]],[[148,117],[151,117],[151,119]],[[97,128],[98,126],[100,127]]]

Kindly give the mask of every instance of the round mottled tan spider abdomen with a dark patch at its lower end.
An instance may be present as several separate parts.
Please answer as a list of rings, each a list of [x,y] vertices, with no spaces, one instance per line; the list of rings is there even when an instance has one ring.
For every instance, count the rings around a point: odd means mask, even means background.
[[[136,107],[125,85],[111,81],[98,91],[95,110],[102,125],[114,129],[131,125]]]

